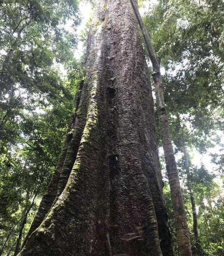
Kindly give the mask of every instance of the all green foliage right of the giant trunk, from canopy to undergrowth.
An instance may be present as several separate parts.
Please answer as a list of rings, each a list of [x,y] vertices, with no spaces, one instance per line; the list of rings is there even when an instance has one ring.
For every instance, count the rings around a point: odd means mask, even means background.
[[[142,2],[142,1],[141,1]],[[155,52],[162,59],[164,96],[175,153],[183,147],[201,154],[223,147],[217,130],[224,117],[224,5],[221,0],[160,0],[146,13],[144,22]],[[220,132],[219,132],[220,134]],[[160,142],[160,138],[158,141]],[[213,154],[214,173],[201,165],[190,167],[198,208],[200,241],[193,235],[193,216],[184,162],[178,163],[194,255],[223,255],[223,149]],[[218,183],[217,183],[218,182]],[[176,250],[175,222],[169,188],[164,187],[169,224]]]

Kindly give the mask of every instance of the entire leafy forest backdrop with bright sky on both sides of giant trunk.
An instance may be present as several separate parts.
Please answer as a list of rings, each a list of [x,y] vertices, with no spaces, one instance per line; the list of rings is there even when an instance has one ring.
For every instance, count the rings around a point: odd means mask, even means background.
[[[83,61],[95,6],[94,1],[76,0],[16,2],[19,8],[0,6],[0,255],[4,256],[14,255],[23,244],[55,170],[74,111],[76,87],[85,79]],[[139,6],[162,59],[193,254],[224,255],[223,1],[142,0]],[[178,255],[158,128],[157,138]],[[183,147],[188,151],[190,176]],[[189,177],[199,240],[193,234]]]

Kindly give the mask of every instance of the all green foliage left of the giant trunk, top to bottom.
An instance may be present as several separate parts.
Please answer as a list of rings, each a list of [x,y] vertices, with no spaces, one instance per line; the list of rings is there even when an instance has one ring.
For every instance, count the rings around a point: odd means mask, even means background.
[[[20,231],[23,243],[55,170],[77,81],[84,76],[72,53],[78,2],[18,2],[20,7],[0,8],[0,255],[13,255]],[[57,62],[69,66],[68,81]]]

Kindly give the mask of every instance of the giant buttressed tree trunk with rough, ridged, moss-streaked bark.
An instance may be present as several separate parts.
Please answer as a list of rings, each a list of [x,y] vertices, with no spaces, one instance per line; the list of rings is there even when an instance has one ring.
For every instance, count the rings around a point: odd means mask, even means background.
[[[137,20],[129,0],[99,2],[57,196],[20,256],[173,255]]]

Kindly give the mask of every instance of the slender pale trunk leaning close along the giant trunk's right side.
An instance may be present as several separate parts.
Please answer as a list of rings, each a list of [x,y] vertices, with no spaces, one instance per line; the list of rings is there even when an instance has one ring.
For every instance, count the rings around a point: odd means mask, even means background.
[[[145,40],[145,45],[147,47],[149,57],[152,62],[153,70],[154,70],[153,80],[154,80],[154,87],[155,87],[155,93],[156,93],[159,126],[160,126],[162,145],[163,145],[164,156],[166,161],[167,175],[169,178],[172,203],[174,207],[174,217],[177,225],[177,238],[178,238],[179,252],[181,256],[191,256],[192,251],[191,251],[189,230],[187,226],[186,213],[183,205],[183,196],[182,196],[180,180],[179,180],[178,170],[176,167],[174,151],[173,151],[169,120],[167,117],[166,105],[164,102],[162,76],[160,73],[160,59],[158,59],[155,54],[153,44],[151,43],[148,31],[145,28],[145,25],[138,11],[138,6],[135,0],[131,0],[131,4],[135,11],[136,17],[138,19],[139,26],[142,30],[142,34]]]

